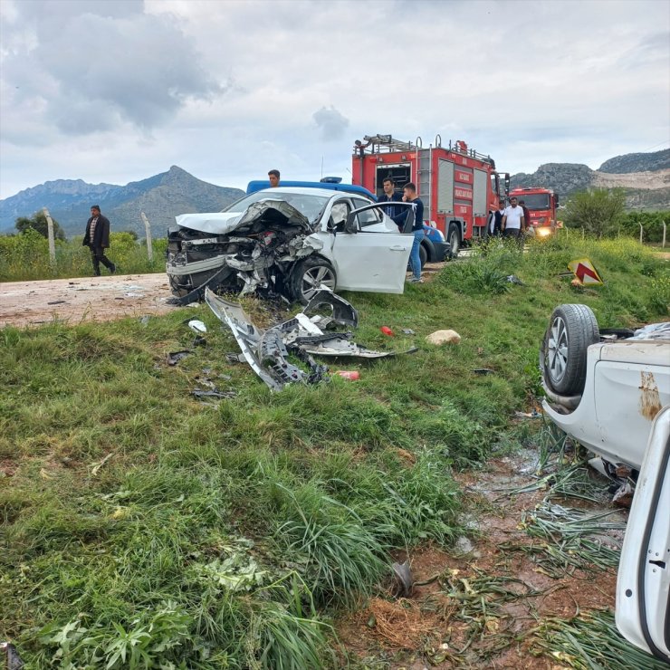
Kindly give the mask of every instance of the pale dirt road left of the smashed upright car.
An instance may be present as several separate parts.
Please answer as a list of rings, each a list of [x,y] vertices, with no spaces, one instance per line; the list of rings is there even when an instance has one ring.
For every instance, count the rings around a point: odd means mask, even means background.
[[[167,304],[170,297],[165,273],[4,282],[0,283],[0,328],[164,314],[175,309]]]

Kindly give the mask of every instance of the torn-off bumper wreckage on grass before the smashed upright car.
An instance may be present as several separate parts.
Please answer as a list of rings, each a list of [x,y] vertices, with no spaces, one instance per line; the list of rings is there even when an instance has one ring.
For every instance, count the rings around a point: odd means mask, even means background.
[[[286,384],[303,382],[316,384],[327,379],[328,368],[317,363],[312,355],[348,357],[361,359],[381,359],[396,356],[395,351],[375,351],[361,347],[351,341],[350,332],[324,330],[333,325],[356,327],[358,312],[349,302],[333,292],[321,289],[314,293],[303,311],[289,321],[279,323],[268,330],[259,330],[236,302],[228,302],[205,290],[205,302],[232,330],[242,354],[235,357],[227,354],[230,361],[246,360],[254,372],[274,391],[282,390]],[[330,314],[315,313],[330,311]],[[318,325],[317,325],[318,324]],[[404,353],[412,353],[416,347]],[[289,362],[292,353],[305,363],[309,372]]]

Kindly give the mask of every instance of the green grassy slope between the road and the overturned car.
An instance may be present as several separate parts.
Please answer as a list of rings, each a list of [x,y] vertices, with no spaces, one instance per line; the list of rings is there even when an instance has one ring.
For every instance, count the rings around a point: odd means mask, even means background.
[[[584,256],[604,286],[559,276]],[[552,308],[587,303],[603,327],[666,319],[667,265],[566,234],[450,263],[401,296],[345,293],[357,341],[418,352],[277,394],[227,362],[235,340],[206,306],[0,330],[0,638],[31,667],[342,665],[332,617],[377,593],[394,550],[463,532],[453,474],[513,445]],[[207,346],[169,367],[187,318]],[[461,344],[426,344],[444,328]],[[196,400],[203,378],[235,397]]]

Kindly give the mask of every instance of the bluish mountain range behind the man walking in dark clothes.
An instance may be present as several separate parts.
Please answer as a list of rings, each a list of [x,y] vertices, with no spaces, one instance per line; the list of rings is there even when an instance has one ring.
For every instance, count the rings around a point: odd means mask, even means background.
[[[217,212],[243,195],[239,188],[216,187],[177,166],[125,187],[58,179],[0,200],[0,233],[13,232],[18,216],[32,216],[48,207],[66,235],[78,235],[90,215],[91,205],[97,204],[110,219],[112,230],[133,230],[143,235],[144,224],[139,213],[144,212],[151,223],[152,235],[162,236],[168,226],[174,225],[176,215]]]

